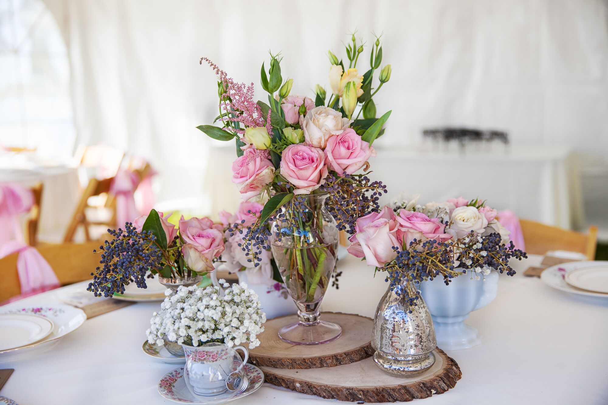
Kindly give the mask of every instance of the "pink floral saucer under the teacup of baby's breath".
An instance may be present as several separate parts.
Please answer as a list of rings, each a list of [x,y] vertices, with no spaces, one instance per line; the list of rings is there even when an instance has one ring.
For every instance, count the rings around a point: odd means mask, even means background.
[[[158,392],[167,400],[173,402],[179,402],[182,404],[196,404],[196,405],[221,405],[243,398],[250,393],[254,392],[262,386],[264,383],[264,373],[255,365],[245,363],[245,375],[249,379],[249,386],[246,390],[235,396],[228,396],[226,394],[216,396],[198,396],[194,398],[184,379],[184,367],[179,367],[171,372],[168,372],[161,378],[158,383]]]

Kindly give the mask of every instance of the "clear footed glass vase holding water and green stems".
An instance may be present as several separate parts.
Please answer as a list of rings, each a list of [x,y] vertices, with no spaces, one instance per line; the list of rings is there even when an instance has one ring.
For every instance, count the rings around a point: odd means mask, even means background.
[[[290,344],[322,344],[342,334],[339,325],[319,319],[339,241],[326,198],[327,193],[295,196],[272,226],[272,255],[298,308],[298,322],[278,331],[279,338]]]

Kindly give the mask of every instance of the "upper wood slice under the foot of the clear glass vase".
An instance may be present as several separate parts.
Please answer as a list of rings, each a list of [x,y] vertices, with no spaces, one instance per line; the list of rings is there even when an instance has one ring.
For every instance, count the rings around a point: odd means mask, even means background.
[[[350,364],[374,354],[371,348],[371,318],[323,312],[321,319],[340,325],[342,335],[325,344],[292,345],[278,337],[278,330],[297,322],[297,316],[280,316],[267,320],[264,331],[258,335],[261,344],[249,350],[249,362],[277,369],[317,369]]]

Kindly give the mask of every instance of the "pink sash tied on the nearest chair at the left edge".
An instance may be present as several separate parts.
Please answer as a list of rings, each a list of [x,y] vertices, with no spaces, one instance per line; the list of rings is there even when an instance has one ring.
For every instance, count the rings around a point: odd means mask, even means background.
[[[19,215],[28,212],[32,204],[31,190],[21,184],[0,184],[0,258],[19,254],[17,273],[22,294],[19,298],[60,286],[49,263],[24,241]]]

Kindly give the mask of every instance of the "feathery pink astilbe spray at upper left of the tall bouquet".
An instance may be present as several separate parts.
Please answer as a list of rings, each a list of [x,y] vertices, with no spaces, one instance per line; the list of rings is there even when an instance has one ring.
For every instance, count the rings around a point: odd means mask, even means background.
[[[226,93],[219,100],[220,108],[229,113],[229,115],[221,117],[224,126],[229,127],[227,129],[240,135],[245,133],[244,128],[241,127],[238,130],[232,128],[230,122],[239,122],[246,127],[264,126],[268,134],[272,135],[271,110],[268,110],[268,116],[263,116],[260,106],[254,101],[254,83],[251,83],[249,86],[245,83],[237,83],[228,77],[226,72],[219,69],[218,65],[210,61],[209,58],[202,57],[200,64],[202,64],[202,61],[206,61],[211,66],[219,81],[223,83],[224,89],[226,89]]]

